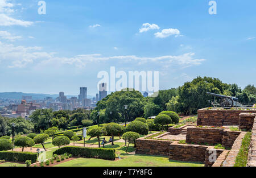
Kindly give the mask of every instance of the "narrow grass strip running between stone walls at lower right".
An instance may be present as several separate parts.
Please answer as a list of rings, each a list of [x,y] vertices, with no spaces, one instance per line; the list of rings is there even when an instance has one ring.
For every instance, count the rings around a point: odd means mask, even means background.
[[[250,142],[251,133],[246,133],[245,137],[242,140],[242,146],[240,148],[240,151],[238,152],[234,167],[246,167]]]

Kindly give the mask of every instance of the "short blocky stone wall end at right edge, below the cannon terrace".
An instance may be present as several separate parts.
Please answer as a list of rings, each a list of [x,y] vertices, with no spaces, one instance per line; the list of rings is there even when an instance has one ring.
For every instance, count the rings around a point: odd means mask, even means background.
[[[241,113],[239,115],[239,128],[247,131],[253,129],[253,122],[256,114]]]

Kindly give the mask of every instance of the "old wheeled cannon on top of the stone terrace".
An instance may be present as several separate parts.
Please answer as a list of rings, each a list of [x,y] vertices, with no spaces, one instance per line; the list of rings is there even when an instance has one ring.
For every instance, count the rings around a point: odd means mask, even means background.
[[[225,95],[215,94],[210,92],[207,92],[207,94],[214,96],[214,105],[216,103],[215,97],[221,98],[221,101],[220,101],[221,107],[234,107],[234,106],[242,105],[238,102],[238,98],[236,97],[230,97],[230,96],[225,96]]]

